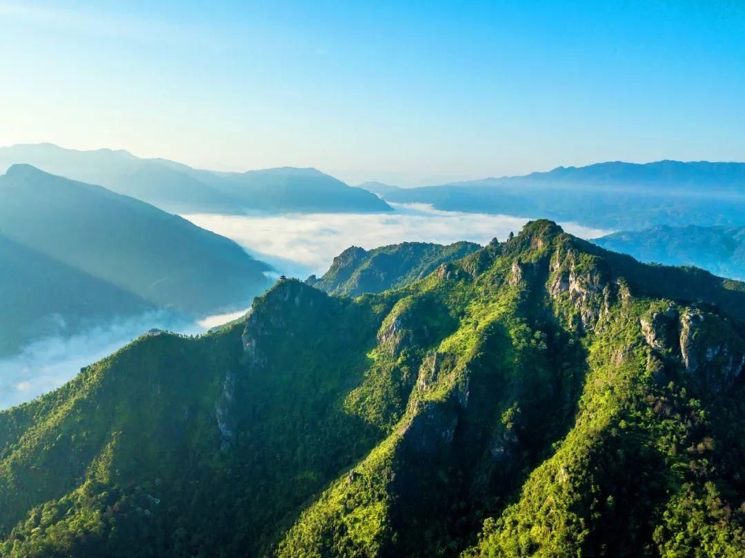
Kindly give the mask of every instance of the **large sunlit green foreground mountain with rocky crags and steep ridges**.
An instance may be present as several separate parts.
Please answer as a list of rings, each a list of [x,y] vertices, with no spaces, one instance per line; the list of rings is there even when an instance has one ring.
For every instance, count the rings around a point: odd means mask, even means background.
[[[550,221],[380,294],[280,281],[0,413],[0,552],[738,557],[744,319]]]

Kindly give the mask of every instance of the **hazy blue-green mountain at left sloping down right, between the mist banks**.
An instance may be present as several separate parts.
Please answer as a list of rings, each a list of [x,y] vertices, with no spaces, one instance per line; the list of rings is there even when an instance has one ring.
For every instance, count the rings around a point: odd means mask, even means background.
[[[29,165],[0,176],[0,236],[6,349],[50,320],[72,332],[143,308],[201,317],[246,308],[270,285],[269,267],[227,238]]]

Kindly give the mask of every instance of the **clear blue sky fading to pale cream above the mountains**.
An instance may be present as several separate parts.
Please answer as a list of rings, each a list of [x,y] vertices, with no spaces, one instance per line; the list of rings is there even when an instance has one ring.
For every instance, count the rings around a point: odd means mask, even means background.
[[[0,145],[355,182],[745,160],[743,1],[4,1]]]

